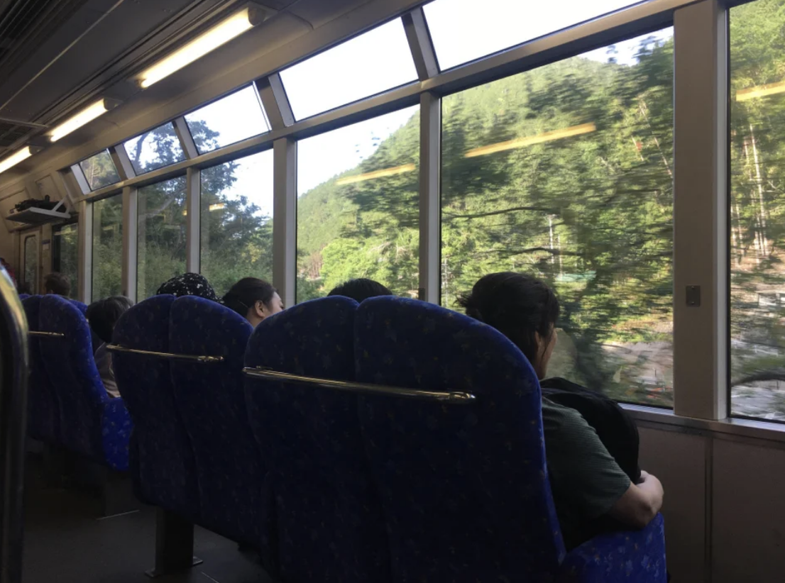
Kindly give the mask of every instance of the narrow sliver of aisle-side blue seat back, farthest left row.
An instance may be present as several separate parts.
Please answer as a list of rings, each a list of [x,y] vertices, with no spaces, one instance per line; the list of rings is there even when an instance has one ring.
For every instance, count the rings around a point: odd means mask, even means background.
[[[21,297],[21,296],[20,296]],[[38,331],[38,310],[41,296],[28,296],[22,301],[27,325]],[[46,373],[41,355],[40,340],[30,337],[30,381],[27,388],[27,432],[35,439],[48,443],[60,440],[60,403],[57,392]]]

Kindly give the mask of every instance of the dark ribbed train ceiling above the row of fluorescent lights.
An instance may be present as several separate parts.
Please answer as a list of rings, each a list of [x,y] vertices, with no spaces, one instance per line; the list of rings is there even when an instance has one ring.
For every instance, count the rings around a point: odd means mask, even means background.
[[[256,0],[312,27],[362,0]],[[246,0],[0,0],[0,159]],[[272,24],[272,23],[271,23]]]

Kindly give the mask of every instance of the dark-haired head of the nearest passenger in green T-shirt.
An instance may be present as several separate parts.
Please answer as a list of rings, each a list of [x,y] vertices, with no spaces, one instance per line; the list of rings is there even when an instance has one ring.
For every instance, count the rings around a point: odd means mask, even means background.
[[[466,315],[493,326],[526,355],[539,378],[546,376],[556,346],[559,300],[550,287],[531,275],[485,275],[458,304]]]

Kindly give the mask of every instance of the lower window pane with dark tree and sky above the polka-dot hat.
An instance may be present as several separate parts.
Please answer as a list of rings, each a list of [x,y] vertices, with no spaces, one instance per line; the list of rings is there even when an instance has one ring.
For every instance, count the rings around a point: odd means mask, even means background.
[[[239,279],[272,281],[272,150],[202,170],[201,271],[223,295]]]

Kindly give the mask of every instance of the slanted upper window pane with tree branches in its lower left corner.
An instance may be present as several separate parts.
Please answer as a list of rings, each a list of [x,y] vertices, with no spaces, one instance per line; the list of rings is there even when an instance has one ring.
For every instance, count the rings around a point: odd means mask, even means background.
[[[185,116],[199,154],[270,131],[254,86]]]

